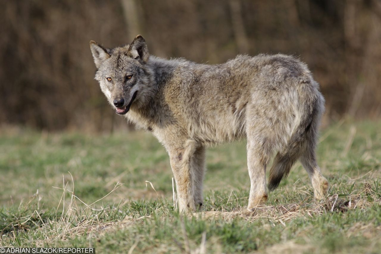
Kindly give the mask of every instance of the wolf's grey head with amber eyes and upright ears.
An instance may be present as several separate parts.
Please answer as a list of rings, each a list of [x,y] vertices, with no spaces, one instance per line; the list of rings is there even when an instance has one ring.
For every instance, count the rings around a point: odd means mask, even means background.
[[[90,49],[98,69],[95,79],[116,113],[126,114],[131,106],[142,106],[152,98],[154,74],[147,66],[149,53],[141,35],[130,45],[112,49],[91,40]]]

